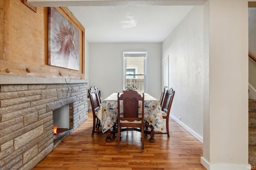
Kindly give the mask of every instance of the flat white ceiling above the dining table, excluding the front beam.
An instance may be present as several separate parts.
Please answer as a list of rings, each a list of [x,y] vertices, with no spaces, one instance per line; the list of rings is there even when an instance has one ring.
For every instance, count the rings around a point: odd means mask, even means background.
[[[162,42],[193,6],[68,6],[98,42]]]

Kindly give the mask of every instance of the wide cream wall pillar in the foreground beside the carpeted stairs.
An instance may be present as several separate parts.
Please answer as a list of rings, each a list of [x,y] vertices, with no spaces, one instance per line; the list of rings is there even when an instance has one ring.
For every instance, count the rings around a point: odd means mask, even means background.
[[[205,36],[204,152],[208,170],[248,166],[248,2],[209,0]],[[205,53],[207,54],[207,52]],[[208,58],[208,61],[207,59]],[[207,92],[208,90],[208,92]],[[208,108],[207,108],[208,107]]]

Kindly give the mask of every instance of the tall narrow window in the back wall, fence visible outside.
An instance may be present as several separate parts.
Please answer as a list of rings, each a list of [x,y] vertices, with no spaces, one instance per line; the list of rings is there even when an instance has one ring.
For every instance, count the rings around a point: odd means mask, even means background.
[[[146,93],[146,56],[146,51],[123,52],[123,90],[131,84],[139,93]]]

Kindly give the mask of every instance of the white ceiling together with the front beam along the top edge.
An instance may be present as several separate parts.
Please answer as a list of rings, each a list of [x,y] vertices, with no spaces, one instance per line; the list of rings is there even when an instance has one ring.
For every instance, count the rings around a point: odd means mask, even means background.
[[[67,6],[98,42],[162,42],[194,6],[207,0],[26,0],[33,7]]]

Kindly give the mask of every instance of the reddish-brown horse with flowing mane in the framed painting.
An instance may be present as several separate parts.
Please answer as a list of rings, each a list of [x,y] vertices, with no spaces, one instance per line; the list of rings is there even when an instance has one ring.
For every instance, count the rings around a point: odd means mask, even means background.
[[[54,47],[54,61],[58,66],[68,68],[68,61],[70,57],[77,59],[78,53],[76,51],[74,41],[74,30],[71,27],[66,27],[62,23],[55,32],[53,38]]]

